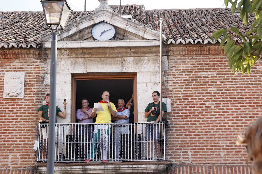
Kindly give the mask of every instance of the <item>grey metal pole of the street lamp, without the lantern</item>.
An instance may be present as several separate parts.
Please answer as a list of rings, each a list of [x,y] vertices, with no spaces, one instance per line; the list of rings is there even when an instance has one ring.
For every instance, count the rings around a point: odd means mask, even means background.
[[[55,152],[55,122],[56,122],[56,60],[57,60],[57,34],[52,33],[50,57],[50,105],[49,105],[49,131],[48,131],[48,157],[47,173],[54,173]]]

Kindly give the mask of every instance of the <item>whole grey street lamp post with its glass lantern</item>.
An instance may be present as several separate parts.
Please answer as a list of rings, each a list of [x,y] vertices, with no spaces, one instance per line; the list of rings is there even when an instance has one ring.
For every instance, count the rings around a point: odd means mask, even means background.
[[[56,59],[58,32],[65,28],[65,24],[71,13],[71,8],[66,0],[40,1],[43,6],[46,25],[52,33],[51,62],[50,62],[50,102],[49,102],[49,131],[48,131],[48,153],[47,173],[54,173],[54,139],[55,139],[55,117],[56,117]]]

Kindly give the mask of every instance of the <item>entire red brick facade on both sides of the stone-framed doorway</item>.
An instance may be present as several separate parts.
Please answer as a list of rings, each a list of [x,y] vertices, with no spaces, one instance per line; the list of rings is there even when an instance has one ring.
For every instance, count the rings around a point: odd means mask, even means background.
[[[250,171],[244,146],[235,142],[261,116],[262,62],[250,75],[233,75],[222,51],[200,44],[166,48],[169,70],[163,97],[171,99],[167,159],[173,162],[169,173]],[[37,109],[49,88],[44,85],[46,59],[41,49],[1,49],[0,67],[0,169],[35,166]],[[12,71],[26,71],[22,99],[3,99],[4,73]]]

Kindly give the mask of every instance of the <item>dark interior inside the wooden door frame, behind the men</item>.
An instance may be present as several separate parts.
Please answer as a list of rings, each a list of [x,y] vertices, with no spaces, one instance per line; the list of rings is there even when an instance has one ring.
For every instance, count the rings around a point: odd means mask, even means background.
[[[133,94],[133,81],[133,79],[76,80],[76,109],[82,107],[82,98],[87,98],[89,106],[93,108],[94,103],[101,101],[104,91],[110,93],[110,102],[114,103],[116,107],[120,98],[127,103]],[[134,122],[133,115],[130,115],[129,121]]]

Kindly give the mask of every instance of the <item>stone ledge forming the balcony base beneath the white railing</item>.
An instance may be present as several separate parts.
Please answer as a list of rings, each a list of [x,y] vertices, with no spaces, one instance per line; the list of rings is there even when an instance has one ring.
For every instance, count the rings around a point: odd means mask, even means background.
[[[167,162],[93,162],[93,163],[55,163],[54,174],[121,174],[121,173],[154,173],[162,174]],[[37,164],[37,174],[47,174],[47,164]]]

